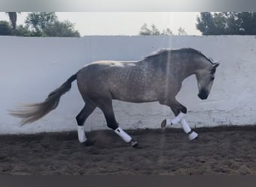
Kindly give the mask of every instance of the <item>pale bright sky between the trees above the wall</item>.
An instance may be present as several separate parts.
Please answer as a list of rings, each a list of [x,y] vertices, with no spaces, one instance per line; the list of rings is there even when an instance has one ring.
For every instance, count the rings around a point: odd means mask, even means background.
[[[28,13],[18,14],[17,25],[23,24]],[[84,35],[138,35],[141,26],[154,24],[159,31],[185,28],[189,35],[201,35],[195,27],[198,12],[56,12],[59,21],[69,20]],[[8,20],[0,13],[0,20]]]

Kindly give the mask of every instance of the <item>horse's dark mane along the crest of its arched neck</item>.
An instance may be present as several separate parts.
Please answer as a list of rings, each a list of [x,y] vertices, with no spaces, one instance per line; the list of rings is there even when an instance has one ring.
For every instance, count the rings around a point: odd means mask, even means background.
[[[213,59],[212,58],[207,58],[201,51],[198,51],[193,48],[180,48],[180,49],[159,49],[156,52],[153,52],[151,55],[148,55],[144,57],[144,59],[150,59],[154,57],[158,57],[160,55],[168,55],[168,53],[175,53],[175,52],[180,52],[180,53],[189,53],[189,54],[195,54],[195,55],[201,55],[202,57],[206,58],[208,61],[210,61],[213,64]]]

